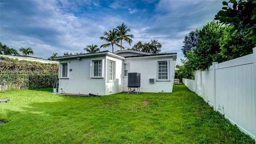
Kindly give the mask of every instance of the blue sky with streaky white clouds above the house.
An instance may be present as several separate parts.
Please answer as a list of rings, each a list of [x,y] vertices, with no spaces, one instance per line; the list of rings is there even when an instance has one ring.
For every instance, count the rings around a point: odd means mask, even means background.
[[[122,42],[126,49],[158,39],[161,52],[177,52],[181,65],[184,36],[202,29],[221,8],[222,0],[1,0],[0,42],[16,50],[31,47],[31,56],[47,59],[100,47],[107,43],[100,36],[124,23],[134,35],[131,46]]]

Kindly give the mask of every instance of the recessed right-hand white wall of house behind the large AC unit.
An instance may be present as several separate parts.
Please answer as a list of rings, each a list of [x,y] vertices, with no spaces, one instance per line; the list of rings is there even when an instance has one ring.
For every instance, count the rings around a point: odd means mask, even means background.
[[[172,56],[126,58],[124,66],[128,66],[128,72],[140,73],[140,92],[172,92],[175,67]],[[128,91],[128,77],[124,72],[123,77],[123,89]],[[150,83],[150,78],[154,78],[154,83]]]

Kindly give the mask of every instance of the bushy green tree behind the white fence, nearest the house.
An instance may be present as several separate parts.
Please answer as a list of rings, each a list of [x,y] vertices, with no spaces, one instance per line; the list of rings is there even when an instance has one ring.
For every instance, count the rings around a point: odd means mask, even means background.
[[[186,54],[188,62],[192,65],[193,70],[206,70],[212,62],[222,61],[220,56],[219,39],[222,37],[225,26],[221,26],[214,20],[208,23],[199,32],[200,39],[196,49]]]

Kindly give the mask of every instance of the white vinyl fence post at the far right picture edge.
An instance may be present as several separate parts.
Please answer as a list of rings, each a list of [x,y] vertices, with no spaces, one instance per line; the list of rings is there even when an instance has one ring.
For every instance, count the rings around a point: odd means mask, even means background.
[[[254,118],[255,118],[255,126],[254,126],[254,136],[255,136],[255,138],[254,138],[254,140],[256,141],[256,47],[255,48],[253,48],[252,49],[252,51],[253,51],[253,58],[254,58],[254,60],[253,60],[253,73],[254,73],[254,88],[253,88],[253,92],[252,92],[252,94],[254,94],[253,96],[254,96]]]

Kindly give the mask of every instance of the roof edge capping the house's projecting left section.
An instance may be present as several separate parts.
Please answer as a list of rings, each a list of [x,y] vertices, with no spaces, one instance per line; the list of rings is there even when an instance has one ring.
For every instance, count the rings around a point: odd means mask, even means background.
[[[54,60],[61,60],[61,59],[67,59],[67,58],[88,57],[88,56],[100,56],[100,55],[108,55],[108,56],[112,56],[112,57],[116,57],[116,58],[124,60],[124,57],[113,54],[112,52],[109,52],[108,50],[105,50],[105,51],[102,51],[102,52],[91,53],[91,54],[75,54],[75,55],[68,55],[68,56],[58,56],[58,57],[55,57]]]

